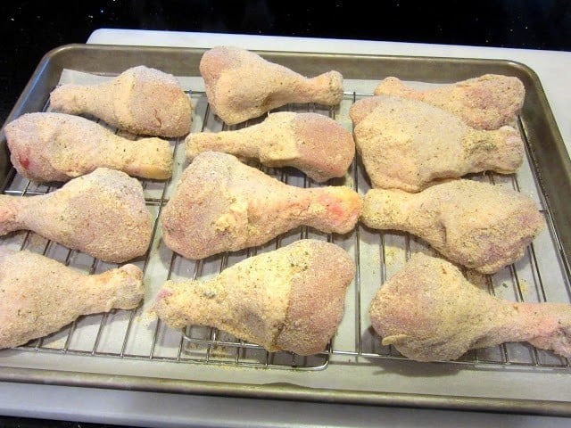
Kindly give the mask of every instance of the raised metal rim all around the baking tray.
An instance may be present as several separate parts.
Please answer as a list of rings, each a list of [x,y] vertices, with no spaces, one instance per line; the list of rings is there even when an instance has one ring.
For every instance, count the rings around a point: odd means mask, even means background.
[[[62,45],[46,53],[37,69],[29,79],[17,103],[5,120],[8,123],[29,111],[40,111],[46,103],[46,94],[57,83],[62,68],[92,71],[101,70],[102,61],[116,64],[116,68],[107,67],[108,72],[120,72],[128,66],[145,62],[151,67],[161,68],[172,74],[198,75],[198,63],[204,49],[178,47],[120,46],[120,45]],[[111,54],[112,53],[112,54]],[[560,236],[560,251],[569,273],[567,255],[571,254],[571,225],[566,213],[571,212],[567,198],[559,194],[571,193],[571,161],[550,105],[542,90],[540,79],[524,64],[508,60],[480,60],[437,57],[410,57],[396,55],[352,55],[325,53],[270,53],[260,52],[270,61],[277,61],[287,67],[299,70],[307,75],[328,69],[342,72],[345,78],[381,79],[398,74],[402,79],[414,79],[417,67],[430,70],[432,79],[426,81],[447,82],[461,78],[475,77],[484,72],[505,72],[516,75],[524,81],[527,89],[524,111],[524,126],[528,125],[530,134],[530,155],[534,169],[538,171],[538,181],[545,194],[546,203],[552,212],[552,221]],[[170,60],[165,67],[165,56]],[[119,62],[117,58],[120,58]],[[311,58],[311,62],[307,61]],[[394,59],[406,62],[405,72],[390,67],[383,70],[375,68],[379,60]],[[402,67],[402,65],[400,66]],[[99,69],[98,69],[99,68]],[[406,70],[410,70],[410,76]],[[364,74],[363,74],[364,73]],[[454,78],[450,76],[453,73]],[[533,89],[530,91],[530,89]],[[534,109],[543,111],[534,115]],[[4,127],[3,127],[4,128]],[[542,136],[549,136],[549,146],[536,145]],[[9,153],[5,144],[4,131],[0,132],[0,181],[6,184],[10,170]],[[264,399],[296,399],[323,402],[344,402],[365,405],[387,405],[401,407],[438,407],[449,409],[475,409],[537,415],[570,416],[571,403],[526,399],[492,399],[478,397],[447,397],[427,394],[408,394],[393,392],[340,391],[316,388],[304,388],[289,383],[279,384],[242,384],[210,383],[202,381],[180,381],[176,379],[157,379],[133,375],[89,374],[29,368],[0,367],[0,380],[17,383],[44,383],[94,388],[112,388],[137,391],[179,392],[201,395],[221,395]]]

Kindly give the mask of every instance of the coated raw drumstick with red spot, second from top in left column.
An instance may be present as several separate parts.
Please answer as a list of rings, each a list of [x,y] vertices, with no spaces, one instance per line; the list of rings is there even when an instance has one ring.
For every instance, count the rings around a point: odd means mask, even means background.
[[[29,113],[12,120],[4,130],[12,165],[38,183],[68,181],[99,167],[160,180],[172,174],[168,141],[128,140],[80,116]]]

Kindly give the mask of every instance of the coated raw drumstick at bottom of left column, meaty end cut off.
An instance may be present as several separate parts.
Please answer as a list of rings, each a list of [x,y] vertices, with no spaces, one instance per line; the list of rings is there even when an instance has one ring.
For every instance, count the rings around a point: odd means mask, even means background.
[[[57,332],[81,315],[136,308],[142,278],[135,265],[86,275],[34,252],[0,247],[0,349]]]

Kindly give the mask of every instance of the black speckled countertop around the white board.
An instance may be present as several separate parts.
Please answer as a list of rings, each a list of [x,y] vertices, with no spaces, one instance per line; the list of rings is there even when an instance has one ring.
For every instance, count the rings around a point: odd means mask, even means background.
[[[300,4],[296,6],[295,4]],[[0,4],[0,123],[12,110],[42,56],[54,47],[85,43],[100,28],[207,31],[331,37],[445,45],[571,51],[571,1],[390,1],[371,11],[365,2],[267,0],[4,1]],[[0,416],[8,427],[103,427]]]

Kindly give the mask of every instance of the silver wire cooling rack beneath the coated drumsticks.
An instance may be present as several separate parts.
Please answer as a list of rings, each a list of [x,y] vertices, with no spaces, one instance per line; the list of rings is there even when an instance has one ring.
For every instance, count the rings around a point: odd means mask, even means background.
[[[227,127],[209,108],[203,92],[188,91],[194,105],[194,128],[192,132],[233,130],[258,123],[261,119],[251,120],[238,127]],[[347,92],[343,102],[335,109],[324,108],[315,104],[290,104],[282,109],[289,111],[315,111],[340,120],[344,126],[351,127],[348,110],[352,103],[362,97],[370,96],[355,92]],[[50,111],[46,104],[44,111]],[[104,125],[102,123],[102,125]],[[527,148],[525,127],[519,122],[519,128]],[[326,235],[309,227],[299,227],[285,235],[278,236],[269,243],[236,253],[225,253],[203,260],[184,259],[167,249],[161,242],[158,218],[161,210],[169,201],[173,186],[176,185],[180,170],[184,168],[184,140],[171,140],[175,168],[173,177],[166,182],[142,180],[147,208],[153,213],[153,241],[144,257],[132,262],[145,272],[145,284],[157,290],[167,279],[192,278],[203,279],[216,275],[241,259],[251,257],[261,251],[271,251],[285,243],[297,239],[314,238],[328,242],[342,242],[344,247],[352,249],[357,265],[355,280],[349,290],[343,329],[337,333],[327,350],[321,354],[302,357],[291,352],[268,352],[260,346],[241,341],[228,333],[202,326],[188,326],[184,331],[173,330],[160,320],[147,319],[145,316],[148,303],[143,307],[131,310],[112,310],[106,314],[80,317],[62,331],[51,334],[19,347],[20,350],[34,352],[55,352],[65,355],[84,355],[105,358],[135,358],[148,361],[170,361],[173,363],[193,363],[209,365],[254,366],[264,368],[322,370],[333,358],[352,358],[351,364],[371,364],[382,359],[400,359],[402,357],[392,346],[382,346],[380,337],[374,333],[368,322],[368,303],[380,284],[393,275],[415,251],[434,252],[412,235],[376,231],[358,225],[348,235]],[[495,185],[506,185],[525,193],[530,193],[542,207],[548,230],[541,242],[532,243],[525,259],[515,265],[504,268],[494,276],[483,276],[474,272],[465,275],[474,284],[487,289],[503,299],[514,301],[549,301],[555,294],[559,301],[571,301],[569,279],[564,269],[557,275],[558,284],[547,287],[545,280],[546,267],[551,267],[553,260],[560,263],[561,253],[558,236],[550,221],[550,213],[545,210],[542,193],[531,163],[529,153],[522,171],[513,176],[496,174],[480,174],[471,178],[489,181]],[[267,174],[276,177],[289,185],[302,187],[319,186],[301,173],[293,169],[268,169],[257,165]],[[35,185],[21,177],[12,169],[12,178],[4,190],[5,194],[22,197],[48,193],[55,186]],[[338,180],[337,180],[338,181]],[[368,178],[358,158],[353,161],[343,183],[364,194],[370,188]],[[539,239],[539,238],[538,238]],[[103,263],[78,251],[70,251],[57,243],[31,233],[20,232],[2,238],[4,244],[15,245],[20,249],[40,252],[48,257],[58,259],[67,266],[78,268],[89,274],[103,272],[117,265]],[[541,246],[542,250],[538,250]],[[544,262],[544,248],[549,249],[549,256]],[[157,266],[159,268],[157,268]],[[157,274],[155,271],[158,271]],[[550,277],[551,277],[550,272]],[[159,280],[157,278],[160,278]],[[553,293],[554,287],[556,292]],[[565,298],[562,300],[562,296]],[[153,295],[147,293],[146,300]],[[349,332],[349,333],[348,333]],[[449,364],[486,366],[501,369],[504,366],[525,366],[538,369],[558,369],[569,371],[567,358],[559,358],[544,350],[537,350],[526,343],[508,343],[497,347],[471,350],[457,361]]]

